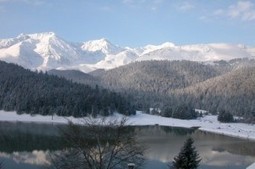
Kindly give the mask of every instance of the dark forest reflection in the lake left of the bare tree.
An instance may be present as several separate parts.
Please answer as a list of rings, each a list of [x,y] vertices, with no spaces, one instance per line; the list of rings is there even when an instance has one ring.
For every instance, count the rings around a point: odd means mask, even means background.
[[[0,132],[1,152],[59,150],[64,147],[55,125],[1,122]]]

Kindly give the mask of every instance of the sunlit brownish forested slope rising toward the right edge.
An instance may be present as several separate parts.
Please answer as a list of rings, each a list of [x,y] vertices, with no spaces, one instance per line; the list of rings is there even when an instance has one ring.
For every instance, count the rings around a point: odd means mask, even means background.
[[[221,76],[171,92],[197,108],[236,115],[255,112],[255,66],[240,67]]]

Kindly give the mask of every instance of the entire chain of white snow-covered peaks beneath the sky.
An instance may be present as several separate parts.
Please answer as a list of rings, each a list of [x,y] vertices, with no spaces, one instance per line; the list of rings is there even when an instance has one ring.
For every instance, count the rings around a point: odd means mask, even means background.
[[[231,44],[178,46],[170,42],[129,48],[114,45],[107,39],[70,43],[53,32],[46,32],[21,34],[0,40],[0,60],[32,70],[77,69],[89,72],[143,60],[211,62],[236,58],[255,59],[254,49]]]

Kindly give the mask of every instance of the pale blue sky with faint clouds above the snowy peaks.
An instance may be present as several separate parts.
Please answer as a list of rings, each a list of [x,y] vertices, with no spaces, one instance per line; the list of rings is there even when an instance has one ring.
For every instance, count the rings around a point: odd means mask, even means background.
[[[255,46],[254,0],[0,0],[0,39],[55,32],[71,42],[106,38],[139,47]]]

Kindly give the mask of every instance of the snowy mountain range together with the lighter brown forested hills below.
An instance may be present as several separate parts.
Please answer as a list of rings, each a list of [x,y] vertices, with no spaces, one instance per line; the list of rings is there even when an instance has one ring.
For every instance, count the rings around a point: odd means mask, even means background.
[[[255,119],[255,48],[240,44],[130,48],[48,32],[0,40],[0,60],[120,92],[137,110],[156,107],[169,116],[189,107]]]

